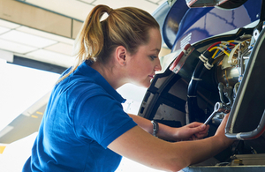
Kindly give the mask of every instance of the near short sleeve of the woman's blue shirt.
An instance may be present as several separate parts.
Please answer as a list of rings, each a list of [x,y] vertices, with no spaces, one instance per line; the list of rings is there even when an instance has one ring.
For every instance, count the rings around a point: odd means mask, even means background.
[[[86,142],[95,140],[104,148],[135,125],[121,103],[108,94],[102,93],[88,99],[84,96],[74,112],[74,128],[78,138]]]

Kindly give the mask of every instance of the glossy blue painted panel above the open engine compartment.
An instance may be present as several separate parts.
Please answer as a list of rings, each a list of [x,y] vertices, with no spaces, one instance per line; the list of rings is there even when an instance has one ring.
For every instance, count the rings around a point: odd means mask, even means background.
[[[201,41],[216,34],[246,26],[260,19],[262,0],[248,0],[234,10],[220,8],[188,8],[178,0],[163,24],[163,41],[175,51],[186,43]]]

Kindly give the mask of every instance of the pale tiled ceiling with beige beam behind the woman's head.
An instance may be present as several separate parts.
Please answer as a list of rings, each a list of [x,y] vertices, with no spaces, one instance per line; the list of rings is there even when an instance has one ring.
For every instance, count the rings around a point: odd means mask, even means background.
[[[165,0],[0,0],[0,58],[14,56],[69,67],[72,44],[97,4],[152,13]]]

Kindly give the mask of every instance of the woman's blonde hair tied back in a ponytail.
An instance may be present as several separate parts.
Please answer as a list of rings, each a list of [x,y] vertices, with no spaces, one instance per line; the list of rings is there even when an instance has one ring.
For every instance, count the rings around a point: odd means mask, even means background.
[[[109,16],[101,20],[104,13]],[[58,82],[68,77],[86,60],[107,63],[117,46],[124,46],[133,55],[140,45],[148,43],[150,28],[159,29],[159,25],[147,11],[134,7],[113,10],[107,5],[95,6],[88,14],[74,43],[77,63]]]

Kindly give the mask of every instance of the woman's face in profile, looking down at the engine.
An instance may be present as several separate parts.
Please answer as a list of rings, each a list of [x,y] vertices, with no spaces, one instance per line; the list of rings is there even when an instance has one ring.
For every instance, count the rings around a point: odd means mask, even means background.
[[[127,56],[129,82],[149,87],[151,79],[154,79],[155,71],[161,71],[158,54],[161,49],[162,38],[158,29],[149,30],[149,42],[141,45],[133,56]]]

